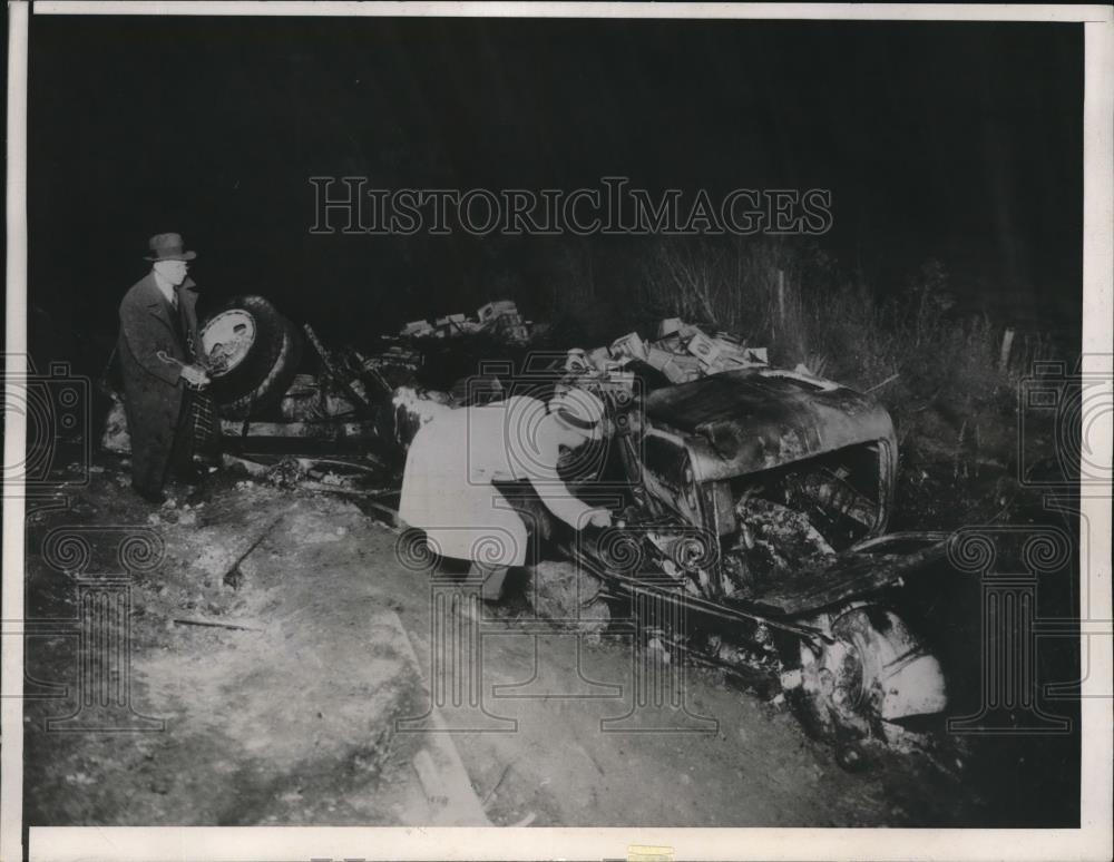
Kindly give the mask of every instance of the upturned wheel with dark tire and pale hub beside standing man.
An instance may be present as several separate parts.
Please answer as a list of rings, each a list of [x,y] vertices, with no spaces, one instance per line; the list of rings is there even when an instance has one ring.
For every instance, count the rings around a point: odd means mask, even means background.
[[[211,363],[213,400],[225,419],[277,401],[293,380],[301,360],[301,336],[262,296],[237,296],[202,326],[202,344]]]

